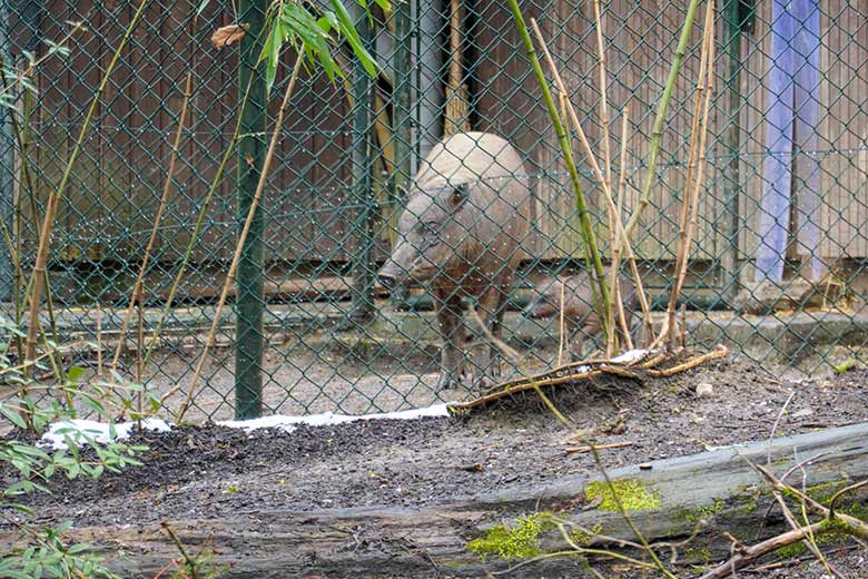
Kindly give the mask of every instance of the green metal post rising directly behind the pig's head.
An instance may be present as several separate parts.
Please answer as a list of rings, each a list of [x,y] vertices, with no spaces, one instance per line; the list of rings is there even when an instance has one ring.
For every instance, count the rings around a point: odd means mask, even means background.
[[[412,125],[411,91],[413,88],[410,69],[411,56],[411,0],[394,3],[395,38],[393,43],[393,94],[392,94],[392,134],[394,139],[395,166],[392,179],[392,206],[389,215],[400,215],[400,204],[407,192],[412,177]],[[395,219],[392,219],[393,225]],[[403,304],[408,297],[406,288],[393,295],[393,301]]]

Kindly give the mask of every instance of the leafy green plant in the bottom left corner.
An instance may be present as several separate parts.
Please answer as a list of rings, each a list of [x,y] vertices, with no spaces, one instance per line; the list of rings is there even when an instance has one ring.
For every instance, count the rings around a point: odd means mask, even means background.
[[[16,328],[7,330],[21,334]],[[43,356],[37,356],[32,366],[38,367]],[[16,386],[11,395],[0,399],[0,415],[20,429],[41,434],[51,422],[70,419],[73,409],[59,400],[78,402],[103,420],[108,419],[111,409],[130,405],[129,396],[122,398],[98,384],[80,384],[83,371],[79,367],[66,372],[61,384],[51,385],[55,395],[39,400],[34,395],[47,386],[29,377],[24,366],[27,364],[13,365],[7,352],[0,351],[0,381]],[[119,390],[120,393],[137,391],[134,387]],[[28,522],[34,512],[22,501],[33,492],[50,493],[47,483],[52,477],[98,479],[107,471],[118,473],[125,467],[138,465],[137,455],[147,448],[120,442],[111,426],[107,443],[97,442],[93,436],[72,428],[56,432],[63,436],[66,448],[47,450],[37,443],[0,440],[0,472],[8,481],[0,485],[0,517],[19,531],[18,546],[0,555],[0,577],[116,577],[102,566],[100,557],[88,552],[88,544],[70,544],[63,540],[70,522],[47,528]],[[14,511],[24,517],[13,517]]]

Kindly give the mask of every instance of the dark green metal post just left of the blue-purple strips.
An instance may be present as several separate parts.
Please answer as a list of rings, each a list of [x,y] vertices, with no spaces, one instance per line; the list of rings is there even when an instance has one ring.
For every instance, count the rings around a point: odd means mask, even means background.
[[[739,153],[741,150],[741,0],[724,0],[723,39],[726,58],[726,97],[722,99],[721,117],[727,121],[723,136],[723,158],[729,159],[723,167],[723,207],[726,253],[722,256],[722,290],[730,298],[738,294],[739,279],[739,195],[741,192]]]

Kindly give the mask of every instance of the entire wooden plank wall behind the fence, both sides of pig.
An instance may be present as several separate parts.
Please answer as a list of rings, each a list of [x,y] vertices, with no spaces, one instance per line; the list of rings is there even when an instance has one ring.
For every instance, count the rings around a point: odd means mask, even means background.
[[[640,165],[648,153],[659,95],[674,53],[683,19],[683,2],[671,0],[612,0],[605,7],[609,50],[609,101],[611,150],[620,150],[620,111],[630,106],[628,159],[630,187],[627,206],[635,205],[644,176]],[[868,179],[866,98],[868,98],[868,0],[823,0],[821,67],[823,82],[820,148],[821,188],[827,204],[821,214],[827,232],[822,252],[829,256],[868,257]],[[481,91],[477,95],[479,126],[510,138],[526,156],[534,183],[536,232],[533,255],[559,257],[581,255],[574,218],[574,199],[561,154],[540,91],[531,75],[524,50],[514,30],[505,0],[477,0],[476,37],[479,62],[473,67]],[[596,116],[598,77],[593,28],[593,4],[589,0],[525,0],[525,17],[535,17],[549,38],[578,108],[584,130],[599,144]],[[743,230],[740,246],[746,256],[756,247],[757,199],[761,194],[763,139],[763,73],[769,50],[769,3],[759,2],[754,32],[743,40],[746,73],[742,91],[747,104],[741,114],[747,143],[741,163],[740,198]],[[47,4],[43,35],[57,38],[58,22],[88,21],[86,32],[66,60],[50,60],[39,79],[41,88],[34,125],[38,147],[38,196],[41,202],[59,179],[90,94],[108,63],[111,51],[131,17],[132,8],[114,0]],[[190,224],[214,177],[219,157],[234,129],[236,59],[234,50],[218,51],[208,41],[210,32],[226,18],[206,17],[198,28],[189,22],[185,2],[161,0],[154,4],[135,42],[124,55],[98,109],[96,125],[86,144],[70,189],[61,206],[56,247],[68,258],[124,257],[138,254],[156,212],[168,165],[175,119],[180,108],[183,81],[190,53],[196,96],[190,130],[183,145],[183,163],[169,213],[158,241],[158,256],[178,258],[189,241]],[[682,195],[684,163],[693,111],[698,45],[702,18],[697,27],[679,85],[670,105],[669,126],[660,156],[659,185],[638,232],[638,253],[645,258],[671,258],[675,222]],[[289,56],[286,56],[289,59]],[[722,58],[722,57],[721,57]],[[718,65],[719,70],[722,66]],[[283,72],[285,73],[285,71]],[[720,81],[720,79],[719,79]],[[277,88],[275,90],[278,90]],[[275,159],[265,208],[269,216],[267,239],[273,259],[344,261],[353,247],[353,209],[349,196],[348,107],[341,88],[303,73],[296,104],[286,120],[284,140]],[[717,107],[717,101],[716,101]],[[274,110],[272,111],[274,114]],[[712,110],[712,144],[717,127]],[[591,179],[590,166],[575,146],[583,186],[605,238],[600,192]],[[277,169],[279,166],[279,169]],[[722,167],[722,164],[720,165]],[[613,178],[620,160],[613,159]],[[235,159],[227,167],[206,229],[194,258],[225,259],[234,247]],[[723,216],[722,190],[712,170],[700,212],[693,247],[698,257],[719,256],[723,244],[716,222]],[[32,239],[29,244],[32,249]]]

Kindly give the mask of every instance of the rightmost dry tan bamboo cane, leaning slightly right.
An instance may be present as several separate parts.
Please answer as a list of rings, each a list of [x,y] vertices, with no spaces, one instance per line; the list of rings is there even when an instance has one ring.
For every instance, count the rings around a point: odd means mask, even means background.
[[[696,102],[693,108],[693,122],[691,127],[691,134],[690,134],[690,153],[688,155],[688,169],[687,175],[684,177],[684,195],[683,200],[681,203],[681,214],[679,218],[679,232],[678,232],[678,248],[675,254],[675,272],[673,276],[673,284],[672,284],[672,291],[669,296],[669,303],[667,305],[667,317],[663,331],[660,333],[660,337],[658,337],[658,341],[655,341],[655,344],[658,344],[659,341],[665,340],[668,342],[669,349],[674,350],[675,349],[675,341],[678,338],[678,296],[681,293],[681,286],[679,284],[679,279],[682,278],[682,274],[687,274],[687,262],[688,257],[690,255],[690,242],[691,239],[688,236],[688,229],[689,229],[689,216],[691,215],[691,207],[694,207],[698,205],[699,202],[699,190],[700,187],[693,187],[694,183],[694,174],[697,174],[696,183],[699,185],[701,177],[701,166],[702,163],[699,164],[699,169],[697,168],[697,157],[701,155],[701,149],[704,147],[704,134],[707,129],[707,122],[708,122],[708,107],[706,104],[710,100],[708,97],[710,96],[710,90],[708,91],[708,95],[706,95],[706,85],[707,85],[707,75],[708,71],[711,70],[711,61],[710,61],[710,55],[712,51],[713,46],[713,21],[714,21],[714,12],[713,12],[713,2],[708,2],[706,4],[706,21],[702,36],[702,51],[700,55],[700,65],[699,65],[699,78],[697,79],[697,94],[696,94]],[[704,159],[704,156],[702,156]]]

